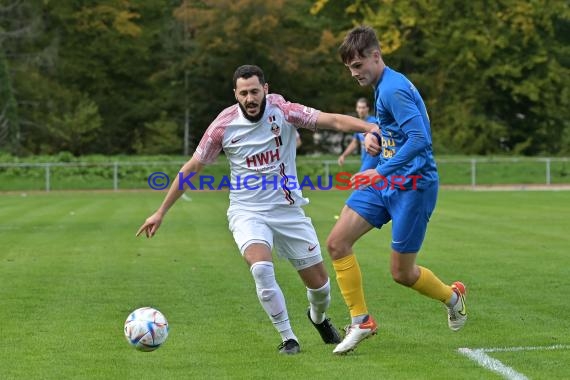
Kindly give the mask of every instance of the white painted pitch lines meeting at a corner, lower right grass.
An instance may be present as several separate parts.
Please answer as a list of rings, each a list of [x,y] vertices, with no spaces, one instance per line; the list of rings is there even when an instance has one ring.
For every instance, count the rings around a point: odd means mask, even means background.
[[[528,380],[528,377],[487,355],[487,352],[517,352],[517,351],[543,351],[543,350],[568,350],[570,345],[555,344],[553,346],[530,346],[530,347],[495,347],[495,348],[459,348],[457,351],[469,359],[475,361],[483,368],[498,373],[508,380]]]

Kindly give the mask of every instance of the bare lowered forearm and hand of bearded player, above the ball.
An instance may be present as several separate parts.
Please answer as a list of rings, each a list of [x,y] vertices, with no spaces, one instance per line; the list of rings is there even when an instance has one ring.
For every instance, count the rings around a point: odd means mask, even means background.
[[[190,173],[199,173],[204,164],[200,163],[197,159],[192,157],[188,162],[186,162],[178,175],[175,176],[174,180],[172,181],[172,185],[170,185],[170,189],[168,189],[168,193],[166,197],[162,201],[162,204],[151,216],[149,216],[142,226],[138,229],[136,236],[139,236],[143,231],[147,238],[153,237],[158,228],[162,223],[162,219],[172,207],[172,205],[184,194],[184,186],[180,186],[180,177],[188,178]]]

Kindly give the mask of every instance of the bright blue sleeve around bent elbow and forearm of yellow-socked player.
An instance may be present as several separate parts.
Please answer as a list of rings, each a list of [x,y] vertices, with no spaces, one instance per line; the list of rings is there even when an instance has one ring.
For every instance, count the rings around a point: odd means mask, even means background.
[[[406,134],[406,142],[394,157],[376,167],[376,171],[384,177],[405,166],[430,144],[422,117],[419,114],[409,119],[401,128]]]

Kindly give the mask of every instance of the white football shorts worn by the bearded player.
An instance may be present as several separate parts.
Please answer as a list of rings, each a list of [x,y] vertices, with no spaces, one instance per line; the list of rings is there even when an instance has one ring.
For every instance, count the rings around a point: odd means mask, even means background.
[[[238,207],[230,206],[228,222],[242,255],[250,244],[265,242],[297,270],[323,261],[317,233],[302,208],[277,205],[270,210],[249,211]]]

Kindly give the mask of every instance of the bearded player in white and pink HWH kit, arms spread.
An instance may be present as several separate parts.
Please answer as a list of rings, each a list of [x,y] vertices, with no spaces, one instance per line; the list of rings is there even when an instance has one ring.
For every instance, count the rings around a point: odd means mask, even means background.
[[[339,333],[325,314],[330,303],[329,276],[315,229],[301,208],[308,200],[289,182],[297,177],[295,132],[297,128],[370,132],[377,127],[269,94],[263,71],[257,66],[240,66],[233,84],[237,104],[223,110],[210,124],[161,206],[146,219],[137,236],[143,231],[147,237],[154,236],[168,209],[184,193],[180,176],[188,178],[190,173],[200,172],[223,150],[231,170],[229,227],[249,265],[259,302],[281,335],[279,352],[296,354],[300,346],[275,278],[273,248],[290,261],[305,284],[307,316],[323,341],[338,344]]]

